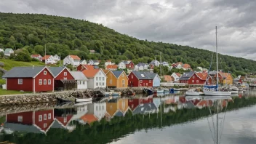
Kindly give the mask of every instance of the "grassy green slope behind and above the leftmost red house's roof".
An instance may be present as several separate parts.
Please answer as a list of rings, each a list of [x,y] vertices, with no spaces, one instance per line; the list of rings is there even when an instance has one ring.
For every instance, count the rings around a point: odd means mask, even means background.
[[[4,63],[4,69],[9,71],[15,66],[39,66],[39,65],[44,65],[44,63],[41,62],[20,62],[20,61],[15,61],[15,60],[6,60],[6,59],[0,59],[1,63]]]

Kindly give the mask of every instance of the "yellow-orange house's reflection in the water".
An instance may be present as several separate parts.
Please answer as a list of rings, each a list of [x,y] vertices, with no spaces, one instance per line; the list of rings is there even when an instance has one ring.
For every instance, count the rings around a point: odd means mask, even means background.
[[[112,118],[113,116],[124,116],[128,110],[128,99],[126,98],[113,99],[107,103],[107,116]]]

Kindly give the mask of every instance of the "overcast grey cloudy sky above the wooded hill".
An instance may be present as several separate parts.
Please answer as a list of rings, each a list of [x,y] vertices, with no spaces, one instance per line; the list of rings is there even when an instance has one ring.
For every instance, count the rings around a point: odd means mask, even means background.
[[[0,12],[44,13],[102,23],[137,39],[256,60],[255,0],[0,0]]]

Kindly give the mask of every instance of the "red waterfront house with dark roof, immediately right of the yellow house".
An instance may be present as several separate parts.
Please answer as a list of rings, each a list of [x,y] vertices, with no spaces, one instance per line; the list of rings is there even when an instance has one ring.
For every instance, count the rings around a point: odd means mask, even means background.
[[[144,71],[132,71],[128,76],[129,87],[153,87],[153,79]]]

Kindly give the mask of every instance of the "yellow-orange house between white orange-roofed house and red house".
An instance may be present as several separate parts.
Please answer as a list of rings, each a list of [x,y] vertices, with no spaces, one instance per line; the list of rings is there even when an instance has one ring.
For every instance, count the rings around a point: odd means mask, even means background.
[[[105,71],[107,75],[107,87],[128,87],[128,77],[124,71]]]

